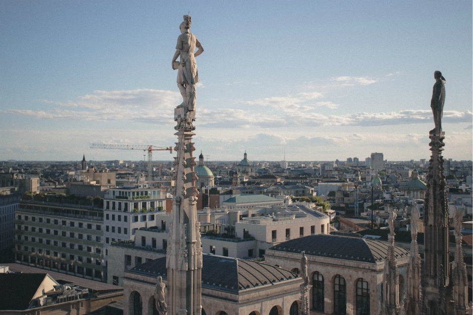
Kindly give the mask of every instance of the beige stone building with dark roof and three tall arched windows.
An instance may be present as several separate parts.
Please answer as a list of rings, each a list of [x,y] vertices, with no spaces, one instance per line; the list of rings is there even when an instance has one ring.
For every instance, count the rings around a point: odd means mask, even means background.
[[[266,251],[265,263],[298,273],[301,252],[308,260],[311,314],[378,313],[387,242],[335,235],[310,235]],[[400,290],[406,282],[409,250],[395,247]]]

